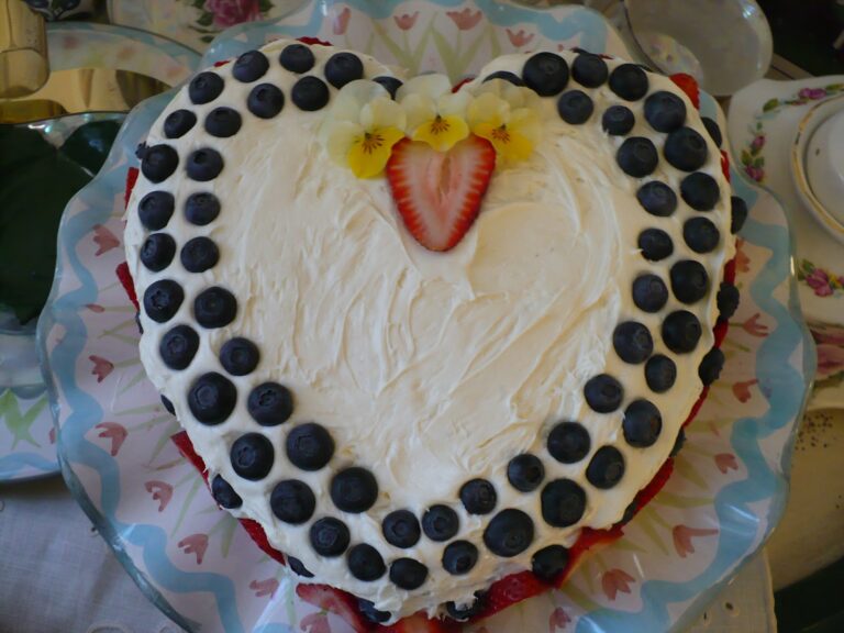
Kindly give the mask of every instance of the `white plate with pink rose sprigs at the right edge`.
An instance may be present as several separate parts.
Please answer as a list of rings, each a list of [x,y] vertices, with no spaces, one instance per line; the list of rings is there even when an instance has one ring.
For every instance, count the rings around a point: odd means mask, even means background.
[[[844,76],[757,81],[733,97],[728,119],[733,159],[789,211],[800,303],[818,344],[810,409],[844,408],[844,247],[801,201],[791,147],[807,112],[841,95]]]

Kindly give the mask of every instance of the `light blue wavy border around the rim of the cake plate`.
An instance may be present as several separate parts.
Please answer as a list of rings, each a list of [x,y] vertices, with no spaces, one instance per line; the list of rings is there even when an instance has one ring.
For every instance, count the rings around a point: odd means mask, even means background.
[[[369,5],[366,0],[356,0],[347,3]],[[392,7],[398,3],[385,2],[384,4]],[[457,0],[436,0],[436,3],[446,7],[455,5],[459,2]],[[499,7],[491,0],[478,0],[478,4]],[[319,9],[319,5],[316,9]],[[508,9],[513,8],[508,7]],[[532,10],[520,8],[518,13],[502,12],[501,14],[506,16],[503,23],[532,22],[533,20],[522,18],[522,15],[525,15],[524,12],[532,12]],[[497,13],[492,11],[492,14],[496,15]],[[519,15],[520,18],[515,19],[513,15]],[[534,13],[533,18],[546,19],[547,14]],[[508,22],[507,20],[511,21]],[[495,20],[492,21],[496,22]],[[553,22],[544,21],[543,24],[553,24]],[[601,25],[603,26],[603,23]],[[263,35],[267,32],[267,25],[264,29],[260,42],[263,42]],[[233,31],[237,31],[237,29]],[[280,29],[276,26],[273,32],[280,32]],[[543,33],[545,33],[544,29]],[[226,38],[231,33],[226,35]],[[568,36],[566,35],[566,37]],[[238,51],[231,54],[236,54],[248,47],[249,42],[240,41],[236,43],[236,46]],[[219,52],[220,49],[220,47],[215,47],[214,51]],[[231,54],[226,53],[224,56],[227,57]],[[211,55],[212,53],[209,52],[206,58],[208,59]],[[79,240],[88,234],[91,224],[98,221],[102,222],[108,218],[114,197],[120,196],[123,189],[125,167],[131,159],[132,149],[134,148],[134,143],[127,144],[125,138],[142,137],[157,112],[160,111],[168,100],[169,93],[163,95],[144,102],[133,111],[112,148],[107,162],[108,167],[88,187],[82,189],[68,206],[68,209],[73,209],[76,203],[84,203],[88,208],[87,211],[76,215],[67,215],[63,220],[59,231],[60,253],[66,255],[67,265],[77,274],[81,281],[81,287],[58,297],[58,286],[57,282],[54,284],[48,303],[49,310],[45,311],[45,314],[48,315],[38,323],[38,347],[42,354],[45,382],[47,384],[53,403],[52,410],[56,419],[62,473],[70,491],[77,498],[82,509],[114,549],[115,555],[141,590],[174,622],[188,631],[197,630],[199,626],[197,622],[189,621],[180,615],[160,591],[147,580],[145,574],[136,567],[133,557],[126,553],[124,543],[141,547],[141,556],[151,576],[166,590],[179,593],[192,591],[209,591],[213,593],[220,622],[224,630],[229,633],[240,633],[244,629],[236,612],[234,588],[227,577],[218,574],[181,571],[170,563],[166,555],[164,547],[166,536],[160,529],[146,524],[132,524],[131,529],[127,529],[130,528],[127,524],[116,519],[115,510],[120,498],[120,473],[116,469],[114,459],[106,451],[85,440],[85,432],[90,429],[93,423],[92,421],[101,418],[102,412],[99,404],[76,386],[74,368],[87,337],[87,331],[84,322],[78,316],[77,308],[90,302],[96,297],[97,289],[92,277],[76,256],[75,247]],[[704,101],[704,107],[707,104],[713,109],[711,100]],[[127,146],[124,147],[124,145]],[[749,185],[738,178],[734,179],[734,184],[743,197],[746,197],[748,201],[755,201],[756,192]],[[724,488],[715,499],[719,518],[722,521],[722,534],[718,555],[710,567],[696,579],[684,584],[645,582],[642,591],[644,607],[638,613],[598,610],[589,614],[588,621],[581,619],[578,626],[580,632],[604,633],[622,625],[624,631],[631,632],[664,630],[669,621],[668,603],[690,600],[691,603],[687,608],[685,615],[673,628],[680,630],[689,624],[714,593],[729,581],[742,562],[755,552],[756,548],[751,551],[751,547],[756,536],[756,531],[744,529],[747,517],[753,515],[747,511],[747,503],[759,498],[773,498],[771,509],[767,518],[769,529],[762,541],[767,537],[782,513],[787,497],[787,477],[790,471],[790,443],[782,455],[781,473],[775,473],[768,468],[762,457],[757,438],[769,435],[789,422],[793,423],[802,411],[809,391],[807,379],[810,382],[810,378],[814,375],[814,359],[811,354],[813,347],[797,303],[793,278],[790,279],[789,306],[784,307],[773,299],[773,289],[787,281],[790,276],[791,244],[788,227],[762,224],[749,220],[743,231],[743,236],[752,243],[770,247],[774,254],[767,270],[759,275],[751,287],[754,299],[760,307],[770,311],[778,324],[777,330],[763,345],[760,354],[767,360],[790,357],[797,346],[802,343],[803,377],[801,379],[797,370],[788,364],[784,365],[781,362],[763,362],[757,364],[757,377],[760,382],[776,386],[776,389],[771,390],[771,408],[768,413],[759,418],[743,419],[733,429],[731,436],[732,445],[736,454],[747,465],[749,475],[747,479]],[[60,279],[64,267],[65,257],[62,257],[59,258],[56,271],[57,280]],[[45,341],[48,332],[58,323],[65,327],[66,333],[64,340],[53,349],[53,354],[48,355]],[[56,370],[51,373],[51,367],[55,367]],[[785,373],[781,371],[784,367],[786,369]],[[57,388],[54,379],[62,385],[70,407],[70,414],[62,429],[58,429],[57,422],[59,411]],[[791,441],[793,441],[793,435]],[[77,479],[68,463],[85,464],[100,475],[102,484],[101,511],[98,510],[88,497],[87,491]],[[754,479],[754,476],[762,478],[762,490],[767,491],[767,493],[759,491],[759,484]],[[724,530],[725,525],[735,529]],[[725,537],[728,534],[729,537]],[[260,626],[259,631],[260,633],[289,633],[289,628],[281,624],[267,624]]]

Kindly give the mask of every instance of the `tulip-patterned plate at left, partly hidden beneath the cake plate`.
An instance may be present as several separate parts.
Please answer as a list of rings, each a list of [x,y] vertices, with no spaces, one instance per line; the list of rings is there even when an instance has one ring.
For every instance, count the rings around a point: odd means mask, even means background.
[[[53,70],[119,68],[169,86],[182,81],[199,63],[199,55],[164,37],[81,22],[48,24],[47,51]],[[63,125],[49,130],[57,142],[68,133]],[[35,327],[12,327],[9,315],[0,314],[0,481],[57,471],[52,415],[35,354]]]

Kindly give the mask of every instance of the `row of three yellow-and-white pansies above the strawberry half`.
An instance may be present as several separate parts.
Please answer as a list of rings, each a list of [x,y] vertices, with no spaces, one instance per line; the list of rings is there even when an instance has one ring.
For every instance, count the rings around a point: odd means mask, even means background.
[[[337,93],[321,135],[332,158],[358,178],[380,175],[406,137],[448,152],[475,134],[492,144],[498,165],[508,165],[528,158],[538,140],[536,101],[533,91],[501,79],[452,92],[444,75],[423,75],[395,100],[381,85],[357,80]]]

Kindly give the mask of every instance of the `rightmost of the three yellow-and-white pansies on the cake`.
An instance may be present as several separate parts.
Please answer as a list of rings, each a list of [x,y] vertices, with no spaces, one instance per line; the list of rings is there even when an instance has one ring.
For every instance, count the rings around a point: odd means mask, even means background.
[[[493,79],[476,90],[467,112],[469,127],[492,143],[499,165],[524,160],[540,138],[536,106],[533,91]]]

